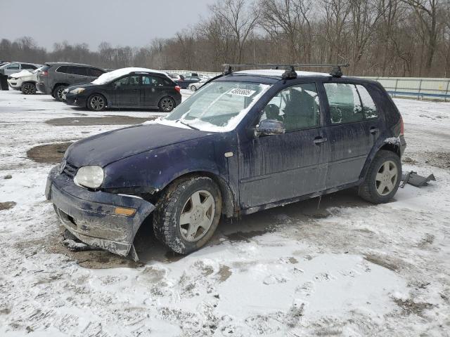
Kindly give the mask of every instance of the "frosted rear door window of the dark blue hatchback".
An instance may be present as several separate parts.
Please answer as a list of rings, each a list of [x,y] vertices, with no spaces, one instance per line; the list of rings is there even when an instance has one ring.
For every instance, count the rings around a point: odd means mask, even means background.
[[[364,119],[361,100],[354,84],[324,83],[331,124],[352,123]]]

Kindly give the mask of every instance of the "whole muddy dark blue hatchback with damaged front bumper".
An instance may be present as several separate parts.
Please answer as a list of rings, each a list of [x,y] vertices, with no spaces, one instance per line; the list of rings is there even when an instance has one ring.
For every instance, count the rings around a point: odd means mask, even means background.
[[[392,199],[406,143],[375,81],[249,70],[212,79],[164,119],[80,140],[46,197],[82,242],[137,258],[142,224],[177,253],[233,217],[348,187]]]

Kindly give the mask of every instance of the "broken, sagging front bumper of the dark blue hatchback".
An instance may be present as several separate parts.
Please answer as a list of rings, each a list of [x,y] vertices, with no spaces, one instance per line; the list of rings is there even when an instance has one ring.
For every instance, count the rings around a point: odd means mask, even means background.
[[[139,197],[89,191],[75,185],[54,167],[47,178],[46,199],[53,203],[64,227],[82,242],[120,256],[134,254],[134,237],[155,206]],[[117,207],[135,209],[132,216],[115,213]]]

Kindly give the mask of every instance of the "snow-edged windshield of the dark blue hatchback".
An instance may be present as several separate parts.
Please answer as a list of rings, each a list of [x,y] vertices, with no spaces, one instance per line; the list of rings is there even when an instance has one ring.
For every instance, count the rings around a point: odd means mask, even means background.
[[[160,123],[179,123],[201,131],[231,131],[269,88],[269,84],[211,82],[176,107]]]

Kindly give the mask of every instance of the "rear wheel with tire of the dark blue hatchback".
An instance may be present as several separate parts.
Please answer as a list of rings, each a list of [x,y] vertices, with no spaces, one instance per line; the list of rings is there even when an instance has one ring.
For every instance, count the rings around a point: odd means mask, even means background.
[[[359,186],[359,196],[373,204],[385,204],[394,197],[400,181],[401,161],[398,154],[380,150],[368,169],[364,183]]]

